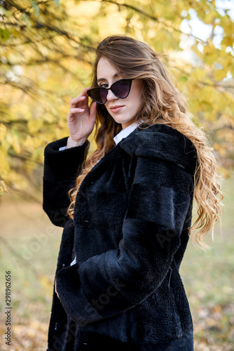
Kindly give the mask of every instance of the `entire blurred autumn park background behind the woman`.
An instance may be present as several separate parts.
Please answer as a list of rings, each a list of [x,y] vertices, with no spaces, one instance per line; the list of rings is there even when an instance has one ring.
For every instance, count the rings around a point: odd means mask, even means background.
[[[207,235],[209,251],[188,244],[181,277],[195,351],[234,350],[233,0],[0,1],[0,348],[46,350],[62,229],[42,209],[43,150],[69,135],[69,102],[89,86],[95,48],[110,34],[165,53],[191,118],[214,147],[222,225],[214,241]],[[4,340],[9,270],[11,347]]]

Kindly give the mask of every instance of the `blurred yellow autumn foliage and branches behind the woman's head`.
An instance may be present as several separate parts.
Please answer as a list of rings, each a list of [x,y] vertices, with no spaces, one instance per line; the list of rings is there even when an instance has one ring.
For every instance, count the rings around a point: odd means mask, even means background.
[[[194,122],[209,132],[223,170],[233,166],[234,24],[221,1],[0,4],[0,192],[33,196],[40,186],[43,149],[68,135],[69,101],[90,84],[95,47],[110,34],[167,54]]]

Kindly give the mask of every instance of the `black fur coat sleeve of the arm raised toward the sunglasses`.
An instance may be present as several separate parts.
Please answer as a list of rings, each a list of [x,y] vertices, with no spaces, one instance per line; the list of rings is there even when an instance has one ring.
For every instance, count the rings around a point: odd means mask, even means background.
[[[81,170],[90,142],[60,151],[67,145],[67,138],[49,143],[44,152],[45,166],[43,173],[43,210],[51,222],[60,227],[69,219],[67,208],[70,204],[68,191],[74,187],[76,177]]]

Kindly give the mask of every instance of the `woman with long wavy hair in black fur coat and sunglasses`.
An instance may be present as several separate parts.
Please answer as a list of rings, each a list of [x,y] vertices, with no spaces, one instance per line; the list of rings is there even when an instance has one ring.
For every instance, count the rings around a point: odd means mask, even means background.
[[[179,267],[190,235],[205,248],[222,197],[205,135],[159,55],[130,37],[99,44],[70,107],[69,138],[45,149],[43,208],[64,227],[48,351],[193,350]]]

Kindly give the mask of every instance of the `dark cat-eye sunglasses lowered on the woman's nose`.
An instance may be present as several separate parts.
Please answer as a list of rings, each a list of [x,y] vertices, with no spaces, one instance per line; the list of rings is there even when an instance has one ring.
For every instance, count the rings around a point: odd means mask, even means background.
[[[89,89],[87,94],[98,104],[106,103],[109,90],[111,90],[112,93],[117,96],[117,98],[125,99],[130,93],[132,81],[133,79],[121,79],[120,81],[113,83],[110,88],[99,86],[97,88]]]

